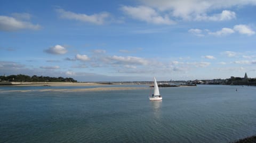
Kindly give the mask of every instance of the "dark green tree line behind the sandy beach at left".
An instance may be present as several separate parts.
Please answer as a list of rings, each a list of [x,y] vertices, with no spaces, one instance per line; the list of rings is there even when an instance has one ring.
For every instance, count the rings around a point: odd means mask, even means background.
[[[9,81],[9,82],[77,82],[73,78],[62,78],[62,77],[37,77],[33,75],[32,77],[28,75],[18,74],[18,75],[9,75],[9,76],[0,76],[0,81]]]

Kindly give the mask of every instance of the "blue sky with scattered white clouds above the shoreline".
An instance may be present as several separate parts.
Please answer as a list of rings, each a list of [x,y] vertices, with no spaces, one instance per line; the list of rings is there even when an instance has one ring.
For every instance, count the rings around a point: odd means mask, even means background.
[[[256,77],[256,0],[0,1],[0,75]]]

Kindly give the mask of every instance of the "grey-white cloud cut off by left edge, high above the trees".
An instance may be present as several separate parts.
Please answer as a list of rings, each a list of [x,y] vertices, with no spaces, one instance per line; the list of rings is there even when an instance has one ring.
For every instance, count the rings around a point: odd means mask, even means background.
[[[39,24],[32,24],[29,21],[22,21],[9,16],[0,15],[0,31],[17,31],[22,29],[39,30]]]

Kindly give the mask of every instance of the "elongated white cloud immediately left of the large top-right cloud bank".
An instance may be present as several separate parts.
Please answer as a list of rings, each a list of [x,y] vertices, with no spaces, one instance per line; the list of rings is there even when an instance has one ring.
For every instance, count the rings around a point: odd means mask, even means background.
[[[151,7],[147,6],[123,6],[121,10],[127,15],[131,16],[133,19],[140,21],[146,21],[153,24],[174,24],[167,14],[161,16],[160,13],[156,12]]]

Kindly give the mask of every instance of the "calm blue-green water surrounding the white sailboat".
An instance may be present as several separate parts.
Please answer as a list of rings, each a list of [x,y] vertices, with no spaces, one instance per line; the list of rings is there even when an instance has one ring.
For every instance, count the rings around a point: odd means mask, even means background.
[[[146,89],[17,89],[0,87],[0,142],[230,142],[256,134],[256,87],[160,88],[162,102],[150,102]]]

